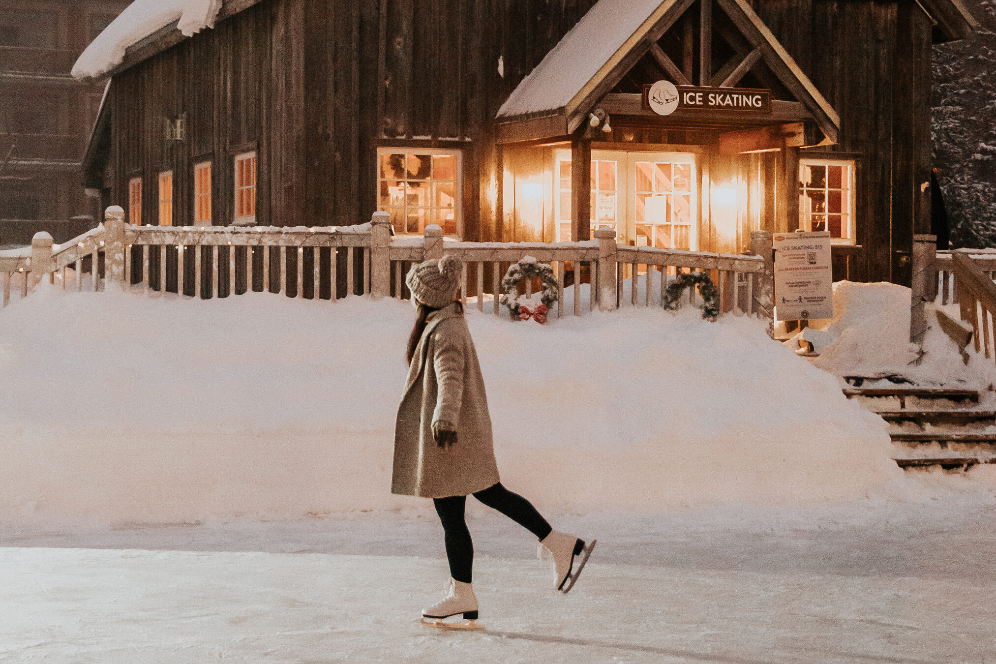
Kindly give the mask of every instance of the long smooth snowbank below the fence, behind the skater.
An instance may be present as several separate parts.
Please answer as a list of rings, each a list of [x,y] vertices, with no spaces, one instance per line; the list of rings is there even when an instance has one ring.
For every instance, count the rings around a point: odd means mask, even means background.
[[[43,286],[0,312],[0,515],[420,506],[389,493],[413,318],[392,300]],[[757,320],[467,321],[503,482],[540,506],[812,502],[901,477],[882,421]]]

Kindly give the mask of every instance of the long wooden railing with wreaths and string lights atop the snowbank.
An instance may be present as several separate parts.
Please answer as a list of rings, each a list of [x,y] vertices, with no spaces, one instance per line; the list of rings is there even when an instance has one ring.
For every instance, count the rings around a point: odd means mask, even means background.
[[[0,254],[4,278],[4,305],[11,284],[22,297],[31,285],[49,275],[50,281],[83,289],[83,274],[94,275],[91,285],[120,285],[146,295],[179,293],[203,299],[224,298],[250,291],[288,297],[339,300],[348,295],[374,298],[410,297],[404,286],[409,267],[447,253],[463,262],[461,298],[476,300],[484,311],[501,294],[501,278],[508,266],[527,256],[550,264],[557,275],[556,315],[565,316],[565,290],[574,288],[571,309],[612,310],[628,299],[631,305],[659,304],[667,284],[688,272],[708,272],[720,292],[723,313],[758,314],[771,319],[773,265],[771,234],[752,234],[755,255],[711,254],[616,243],[616,232],[601,228],[586,242],[488,243],[452,242],[442,230],[429,226],[421,237],[392,238],[386,213],[376,212],[370,223],[358,226],[173,227],[124,224],[124,211],[108,208],[105,223],[74,240],[53,247],[48,234],[33,241],[30,256]],[[103,259],[103,260],[102,260]],[[21,275],[18,281],[18,275]],[[630,293],[624,298],[628,284]],[[642,284],[642,296],[638,296]],[[527,295],[534,285],[525,283]],[[588,286],[588,302],[581,291]],[[695,293],[690,299],[694,301]],[[499,308],[492,304],[492,313]]]

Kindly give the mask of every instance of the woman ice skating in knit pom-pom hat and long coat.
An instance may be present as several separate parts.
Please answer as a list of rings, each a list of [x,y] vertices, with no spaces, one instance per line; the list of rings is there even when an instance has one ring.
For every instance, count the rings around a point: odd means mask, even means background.
[[[391,493],[431,498],[442,521],[450,579],[445,596],[422,609],[422,622],[474,628],[479,627],[471,585],[474,548],[464,522],[468,495],[539,539],[538,553],[553,558],[555,587],[562,592],[574,586],[596,541],[586,545],[554,531],[529,501],[499,480],[484,379],[456,300],[460,267],[459,260],[443,256],[414,266],[405,279],[418,315],[408,338],[408,378],[394,426]],[[457,614],[468,622],[443,622]]]

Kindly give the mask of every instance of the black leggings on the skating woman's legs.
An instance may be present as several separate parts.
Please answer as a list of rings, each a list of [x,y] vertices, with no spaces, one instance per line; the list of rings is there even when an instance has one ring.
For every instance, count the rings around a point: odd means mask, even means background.
[[[474,498],[528,529],[540,540],[550,535],[550,531],[553,530],[532,503],[503,487],[501,482],[478,491],[474,494]],[[467,523],[463,518],[467,497],[433,498],[432,502],[435,503],[436,513],[445,533],[449,575],[458,581],[469,583],[474,565],[474,544],[470,540],[470,531],[467,530]]]

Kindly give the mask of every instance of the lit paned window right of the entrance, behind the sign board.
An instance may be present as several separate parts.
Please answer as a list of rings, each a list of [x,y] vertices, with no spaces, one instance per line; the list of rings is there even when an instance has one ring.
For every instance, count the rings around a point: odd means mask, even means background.
[[[853,243],[855,162],[800,159],[799,184],[799,227]]]

